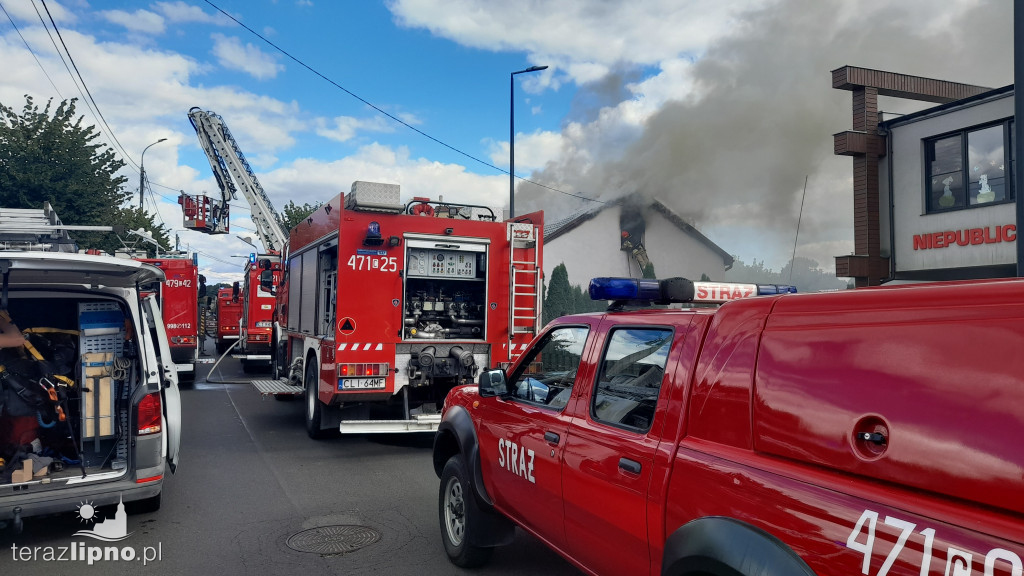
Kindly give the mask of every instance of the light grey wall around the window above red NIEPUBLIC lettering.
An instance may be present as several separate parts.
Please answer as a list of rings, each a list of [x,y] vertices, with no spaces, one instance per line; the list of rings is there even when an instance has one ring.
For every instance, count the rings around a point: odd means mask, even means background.
[[[970,105],[964,109],[924,117],[906,124],[892,126],[890,131],[891,154],[883,160],[880,175],[884,187],[883,203],[888,203],[889,165],[893,166],[893,229],[895,242],[890,246],[888,222],[882,238],[883,255],[895,256],[896,272],[934,271],[1011,264],[1017,260],[1014,242],[984,242],[958,246],[914,249],[914,237],[936,233],[983,230],[988,239],[1000,235],[996,227],[1015,224],[1016,208],[1013,203],[974,207],[937,214],[925,213],[925,146],[924,139],[939,134],[962,130],[989,122],[1011,118],[1014,115],[1013,94]],[[1009,159],[1008,159],[1009,160]],[[888,206],[883,206],[883,217],[888,219]],[[978,234],[978,233],[974,233]]]

